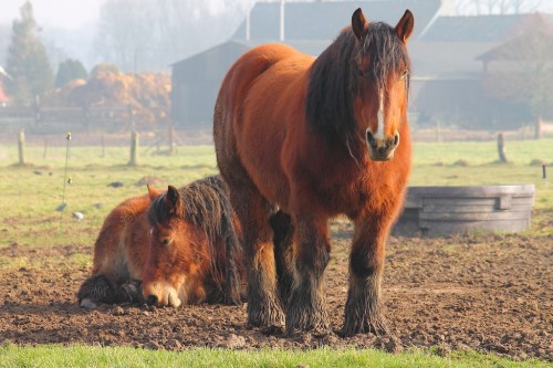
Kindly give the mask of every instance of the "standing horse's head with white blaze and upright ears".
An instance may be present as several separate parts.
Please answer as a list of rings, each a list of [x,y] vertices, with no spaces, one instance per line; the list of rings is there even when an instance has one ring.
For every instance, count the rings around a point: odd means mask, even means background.
[[[414,23],[409,10],[395,28],[380,22],[369,24],[361,9],[352,15],[356,39],[352,73],[357,78],[354,115],[365,132],[368,156],[375,161],[394,157],[400,124],[407,118],[410,62],[406,43]]]

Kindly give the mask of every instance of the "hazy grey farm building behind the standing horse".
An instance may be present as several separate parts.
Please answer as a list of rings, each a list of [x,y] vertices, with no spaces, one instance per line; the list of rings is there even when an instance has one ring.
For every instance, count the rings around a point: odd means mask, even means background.
[[[500,46],[534,17],[441,15],[441,0],[258,2],[226,43],[173,64],[173,111],[177,126],[210,129],[217,93],[231,64],[263,43],[285,43],[319,55],[362,8],[368,20],[395,24],[405,9],[415,14],[409,41],[413,62],[410,112],[420,125],[460,124],[478,128],[520,126],[528,109],[487,97],[484,55]]]

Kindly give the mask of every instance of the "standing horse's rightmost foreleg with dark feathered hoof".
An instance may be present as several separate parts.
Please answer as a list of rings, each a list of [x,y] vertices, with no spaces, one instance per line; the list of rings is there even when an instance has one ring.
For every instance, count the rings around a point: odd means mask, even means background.
[[[385,244],[390,227],[387,222],[368,219],[355,223],[343,336],[369,332],[378,335],[387,330],[380,302]]]

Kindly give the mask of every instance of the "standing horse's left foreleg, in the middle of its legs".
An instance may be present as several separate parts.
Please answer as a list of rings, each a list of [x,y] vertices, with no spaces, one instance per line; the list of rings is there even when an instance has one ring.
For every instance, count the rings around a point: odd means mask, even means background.
[[[324,305],[324,270],[331,244],[326,219],[304,221],[294,228],[294,283],[286,309],[286,334],[313,330],[326,334],[328,318]]]

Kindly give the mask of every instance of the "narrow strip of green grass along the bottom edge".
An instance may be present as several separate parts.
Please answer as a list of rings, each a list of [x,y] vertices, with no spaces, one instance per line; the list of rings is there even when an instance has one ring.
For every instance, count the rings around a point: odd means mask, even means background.
[[[125,347],[0,347],[0,367],[546,367],[491,355],[455,351],[447,357],[411,350],[390,355],[373,349],[225,350],[192,348],[181,353]]]

